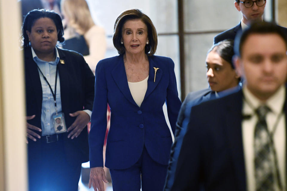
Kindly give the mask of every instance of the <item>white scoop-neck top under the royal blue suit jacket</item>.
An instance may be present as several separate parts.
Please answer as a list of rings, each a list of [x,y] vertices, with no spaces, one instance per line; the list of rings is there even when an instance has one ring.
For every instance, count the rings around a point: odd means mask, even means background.
[[[149,76],[146,77],[143,81],[139,82],[129,82],[129,90],[131,91],[132,98],[135,100],[135,103],[138,107],[141,107],[141,103],[144,100],[144,96],[147,90],[147,79]]]

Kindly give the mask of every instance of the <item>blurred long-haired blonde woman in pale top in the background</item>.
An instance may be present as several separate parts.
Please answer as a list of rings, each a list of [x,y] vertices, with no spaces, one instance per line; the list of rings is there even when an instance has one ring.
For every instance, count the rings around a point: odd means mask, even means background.
[[[64,31],[65,40],[79,35],[84,36],[89,50],[89,55],[84,58],[95,73],[98,61],[103,59],[106,53],[105,30],[94,23],[85,0],[62,0],[61,10],[67,24]]]

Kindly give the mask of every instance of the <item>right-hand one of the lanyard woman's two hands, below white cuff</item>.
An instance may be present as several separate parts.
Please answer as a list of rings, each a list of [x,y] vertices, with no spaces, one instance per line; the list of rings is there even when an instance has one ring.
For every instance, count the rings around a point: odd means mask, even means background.
[[[77,116],[74,123],[71,124],[71,126],[67,130],[67,132],[72,130],[71,133],[69,133],[68,138],[72,136],[71,139],[73,139],[75,137],[78,137],[80,133],[83,131],[84,127],[86,127],[88,122],[90,122],[90,115],[88,115],[88,113],[84,111],[76,111],[74,113],[69,113],[69,115],[71,117]]]

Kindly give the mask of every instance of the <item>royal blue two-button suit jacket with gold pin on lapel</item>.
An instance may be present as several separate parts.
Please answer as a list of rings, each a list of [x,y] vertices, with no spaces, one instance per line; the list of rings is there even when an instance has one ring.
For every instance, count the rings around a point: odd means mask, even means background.
[[[153,160],[167,164],[172,138],[162,106],[166,101],[172,128],[181,102],[176,87],[174,63],[170,58],[149,56],[149,78],[141,107],[129,90],[123,55],[99,61],[96,68],[95,99],[89,134],[90,167],[103,166],[103,144],[107,126],[106,108],[111,108],[105,166],[126,169],[135,164],[144,146]],[[159,68],[156,73],[153,67]]]

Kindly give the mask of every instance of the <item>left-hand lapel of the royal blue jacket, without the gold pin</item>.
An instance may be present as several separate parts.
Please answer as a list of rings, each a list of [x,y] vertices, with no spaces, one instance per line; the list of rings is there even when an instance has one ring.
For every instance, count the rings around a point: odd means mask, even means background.
[[[115,68],[112,70],[112,77],[114,78],[115,83],[119,87],[121,93],[126,97],[126,99],[138,107],[138,105],[135,103],[135,100],[132,98],[131,91],[129,90],[125,65],[123,63],[123,56],[119,56],[119,61]]]

